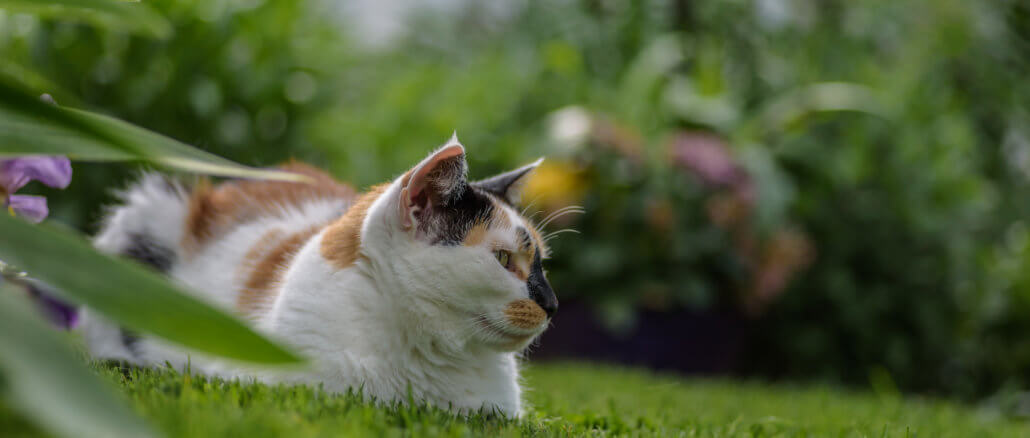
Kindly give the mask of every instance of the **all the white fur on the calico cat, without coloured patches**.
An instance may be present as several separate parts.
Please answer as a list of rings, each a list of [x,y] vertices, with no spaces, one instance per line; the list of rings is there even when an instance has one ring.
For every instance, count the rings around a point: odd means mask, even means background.
[[[256,313],[254,327],[309,358],[309,368],[254,370],[148,337],[130,351],[117,327],[87,310],[80,330],[90,349],[99,358],[140,365],[183,367],[188,361],[195,371],[230,378],[323,384],[332,392],[360,390],[382,401],[404,402],[410,391],[416,400],[456,412],[519,415],[516,355],[547,322],[533,329],[507,323],[504,308],[528,298],[526,282],[499,269],[487,248],[432,245],[406,229],[398,213],[403,211],[402,179],[394,179],[368,210],[360,232],[364,257],[345,269],[331,264],[319,251],[322,229],[291,259],[274,301]],[[147,175],[125,192],[124,205],[111,210],[96,245],[118,252],[127,236],[144,233],[179,248],[187,197],[167,184]],[[325,224],[347,207],[337,199],[282,205],[280,214],[237,227],[180,260],[168,274],[200,298],[232,309],[243,288],[237,267],[256,239],[271,229],[293,233]],[[525,221],[504,208],[513,224]],[[492,240],[515,244],[511,230],[490,233]]]

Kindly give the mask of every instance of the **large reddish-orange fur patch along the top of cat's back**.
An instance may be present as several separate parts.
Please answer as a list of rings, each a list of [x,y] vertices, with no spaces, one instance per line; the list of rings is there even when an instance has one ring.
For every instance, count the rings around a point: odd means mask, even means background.
[[[352,199],[355,195],[350,186],[306,164],[290,162],[279,169],[307,175],[312,182],[234,180],[212,187],[202,180],[191,195],[182,247],[196,250],[211,237],[254,217],[274,214],[282,206],[315,199]]]

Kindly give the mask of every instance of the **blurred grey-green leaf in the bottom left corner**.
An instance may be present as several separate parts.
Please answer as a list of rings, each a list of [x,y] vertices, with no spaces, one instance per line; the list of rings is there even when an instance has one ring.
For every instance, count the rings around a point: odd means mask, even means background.
[[[58,436],[151,436],[20,293],[0,284],[0,373],[10,404]]]

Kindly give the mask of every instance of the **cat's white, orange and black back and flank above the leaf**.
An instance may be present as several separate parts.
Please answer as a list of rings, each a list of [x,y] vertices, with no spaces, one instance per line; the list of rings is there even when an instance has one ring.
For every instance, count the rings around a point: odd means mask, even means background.
[[[356,195],[313,166],[291,162],[279,168],[310,181],[201,180],[186,187],[146,175],[110,210],[96,244],[251,315],[274,293],[293,255]]]

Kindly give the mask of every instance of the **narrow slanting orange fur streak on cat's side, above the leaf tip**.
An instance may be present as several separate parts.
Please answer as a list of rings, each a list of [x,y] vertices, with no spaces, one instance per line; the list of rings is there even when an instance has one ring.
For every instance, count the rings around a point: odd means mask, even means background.
[[[236,300],[237,308],[243,314],[251,314],[262,303],[268,302],[277,292],[277,284],[301,246],[322,227],[310,227],[282,238],[282,231],[272,230],[247,251],[248,261],[254,261],[250,274],[243,283]],[[274,244],[273,244],[274,243]]]

